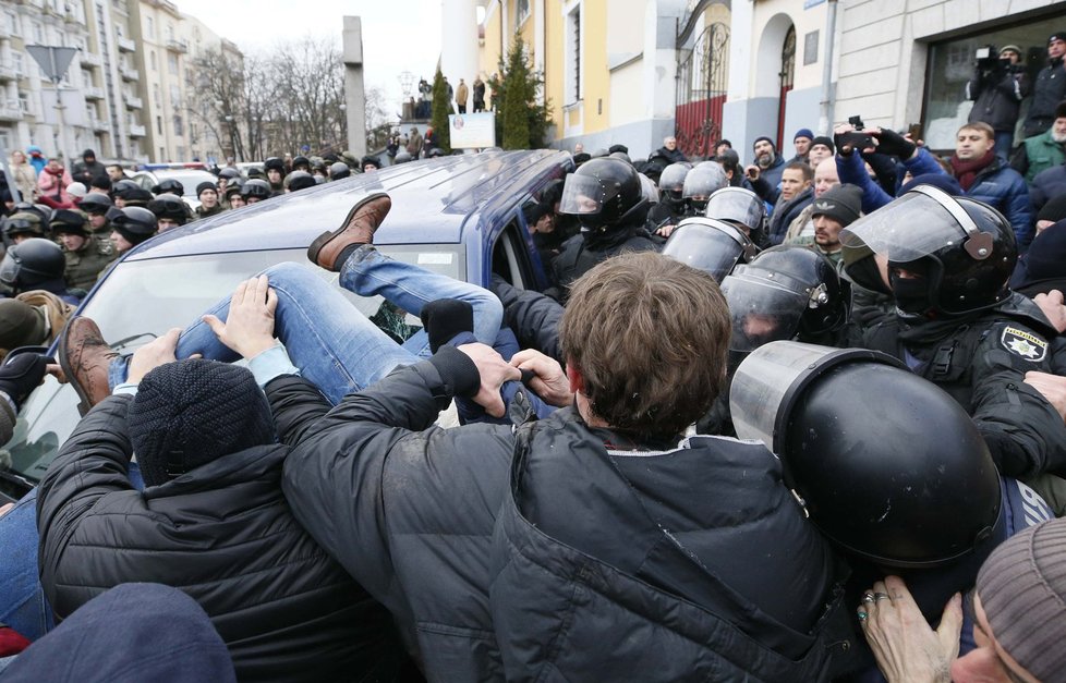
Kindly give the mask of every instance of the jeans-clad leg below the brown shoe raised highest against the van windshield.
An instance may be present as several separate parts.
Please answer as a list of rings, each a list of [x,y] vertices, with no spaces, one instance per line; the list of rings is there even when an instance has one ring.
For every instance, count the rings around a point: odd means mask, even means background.
[[[474,308],[474,337],[493,345],[504,320],[504,306],[488,290],[412,264],[395,260],[373,246],[355,251],[340,271],[340,285],[361,296],[380,295],[419,316],[422,307],[438,298],[457,298]],[[429,340],[419,332],[403,344],[420,356],[429,355]]]

